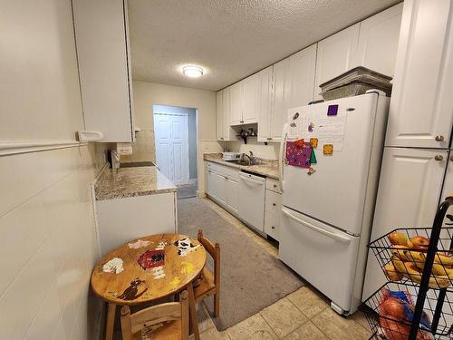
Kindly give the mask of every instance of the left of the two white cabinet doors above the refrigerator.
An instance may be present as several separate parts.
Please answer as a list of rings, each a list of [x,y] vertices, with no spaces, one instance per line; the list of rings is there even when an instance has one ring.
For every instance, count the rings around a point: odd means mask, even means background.
[[[316,80],[313,98],[322,99],[319,85],[344,73],[356,65],[360,24],[336,33],[318,43]]]

